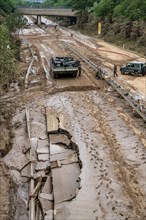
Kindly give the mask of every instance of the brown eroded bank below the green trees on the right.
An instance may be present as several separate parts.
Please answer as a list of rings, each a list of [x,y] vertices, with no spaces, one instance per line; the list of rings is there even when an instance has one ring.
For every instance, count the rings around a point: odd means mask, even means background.
[[[146,55],[146,21],[130,21],[115,18],[101,20],[100,38],[126,49]],[[98,19],[94,15],[82,13],[78,15],[74,29],[97,36]]]

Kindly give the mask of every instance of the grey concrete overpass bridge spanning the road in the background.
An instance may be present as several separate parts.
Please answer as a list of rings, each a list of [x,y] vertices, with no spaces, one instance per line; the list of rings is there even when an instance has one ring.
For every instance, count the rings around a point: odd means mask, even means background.
[[[67,17],[70,23],[76,21],[76,11],[72,9],[17,7],[16,10],[23,15],[36,15],[38,24],[41,24],[41,16]]]

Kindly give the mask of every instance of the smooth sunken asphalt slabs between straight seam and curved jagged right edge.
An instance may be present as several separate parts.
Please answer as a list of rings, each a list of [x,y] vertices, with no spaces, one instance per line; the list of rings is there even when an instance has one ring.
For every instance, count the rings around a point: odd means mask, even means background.
[[[63,115],[46,108],[47,132],[54,194],[54,219],[67,219],[64,202],[70,202],[80,189],[78,146],[65,129]],[[45,219],[49,219],[47,216]]]

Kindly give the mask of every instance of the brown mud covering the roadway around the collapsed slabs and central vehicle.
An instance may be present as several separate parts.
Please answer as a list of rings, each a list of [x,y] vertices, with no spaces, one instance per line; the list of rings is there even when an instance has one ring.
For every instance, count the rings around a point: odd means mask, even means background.
[[[45,20],[45,19],[44,19]],[[71,35],[73,33],[73,35]],[[47,24],[31,24],[19,31],[22,40],[22,81],[35,56],[27,89],[15,88],[2,97],[3,151],[1,159],[1,219],[28,219],[28,178],[19,169],[27,162],[22,153],[26,141],[25,107],[30,108],[32,140],[46,137],[45,107],[64,118],[65,129],[79,148],[82,161],[80,190],[65,203],[66,219],[144,220],[146,218],[146,127],[144,121],[96,73],[82,64],[77,78],[52,79],[52,56],[73,56],[64,42],[88,57],[112,77],[113,64],[144,60],[71,30]],[[145,77],[121,76],[117,81],[145,97]],[[12,109],[5,117],[7,108]],[[9,120],[9,122],[8,122]],[[3,127],[2,127],[3,126]],[[6,147],[5,147],[6,145]],[[2,146],[1,146],[2,148]],[[55,218],[61,219],[61,218]]]

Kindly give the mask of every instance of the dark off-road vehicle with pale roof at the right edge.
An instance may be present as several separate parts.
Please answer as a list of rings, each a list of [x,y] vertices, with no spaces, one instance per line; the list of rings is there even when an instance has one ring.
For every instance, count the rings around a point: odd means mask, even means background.
[[[126,66],[121,66],[120,71],[122,74],[131,74],[135,76],[146,74],[146,62],[129,62]]]

